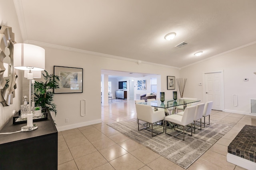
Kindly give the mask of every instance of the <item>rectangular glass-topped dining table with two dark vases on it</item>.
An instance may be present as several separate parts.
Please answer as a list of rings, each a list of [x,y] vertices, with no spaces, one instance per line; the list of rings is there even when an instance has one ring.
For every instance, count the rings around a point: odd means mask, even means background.
[[[174,101],[173,99],[169,99],[169,100],[164,100],[164,102],[161,102],[160,100],[156,100],[151,102],[141,102],[138,104],[152,106],[152,107],[155,107],[156,110],[158,110],[159,108],[162,108],[164,109],[166,115],[168,115],[169,114],[168,110],[171,107],[173,108],[171,114],[176,114],[177,106],[183,105],[183,110],[184,110],[187,107],[187,104],[196,103],[196,102],[200,102],[200,100],[177,99],[176,101]]]

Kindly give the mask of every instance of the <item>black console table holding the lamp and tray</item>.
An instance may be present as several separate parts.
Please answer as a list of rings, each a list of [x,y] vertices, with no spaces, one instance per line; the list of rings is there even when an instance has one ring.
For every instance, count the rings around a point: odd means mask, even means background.
[[[58,131],[50,113],[37,121],[38,129],[0,135],[0,170],[57,170]],[[20,131],[25,124],[12,124],[12,118],[0,133]]]

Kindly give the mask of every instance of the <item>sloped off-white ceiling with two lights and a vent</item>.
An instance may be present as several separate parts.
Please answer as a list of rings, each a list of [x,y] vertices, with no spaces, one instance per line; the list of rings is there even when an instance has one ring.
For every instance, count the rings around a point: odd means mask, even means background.
[[[24,41],[178,68],[256,41],[256,0],[14,2]]]

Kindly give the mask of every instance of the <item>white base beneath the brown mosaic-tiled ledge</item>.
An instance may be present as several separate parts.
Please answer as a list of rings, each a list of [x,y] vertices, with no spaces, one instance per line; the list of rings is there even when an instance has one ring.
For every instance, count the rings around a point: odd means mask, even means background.
[[[232,164],[235,164],[235,165],[241,166],[243,168],[246,168],[248,170],[256,170],[256,163],[255,162],[252,162],[252,161],[244,159],[244,158],[240,158],[239,156],[236,156],[234,154],[228,153],[227,154],[227,161],[232,163]]]

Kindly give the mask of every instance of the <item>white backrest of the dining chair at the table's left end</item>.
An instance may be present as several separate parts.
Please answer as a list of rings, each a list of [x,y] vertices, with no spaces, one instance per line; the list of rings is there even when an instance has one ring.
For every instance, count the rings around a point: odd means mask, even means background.
[[[137,118],[143,121],[152,121],[152,107],[144,104],[135,104]]]

